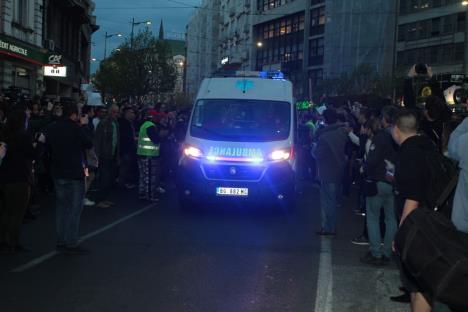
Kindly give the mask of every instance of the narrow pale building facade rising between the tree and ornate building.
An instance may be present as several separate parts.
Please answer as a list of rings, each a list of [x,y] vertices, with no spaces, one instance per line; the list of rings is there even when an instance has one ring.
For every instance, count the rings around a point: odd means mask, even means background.
[[[203,0],[200,7],[186,28],[185,92],[191,96],[198,92],[202,80],[216,71],[219,62],[220,2]]]

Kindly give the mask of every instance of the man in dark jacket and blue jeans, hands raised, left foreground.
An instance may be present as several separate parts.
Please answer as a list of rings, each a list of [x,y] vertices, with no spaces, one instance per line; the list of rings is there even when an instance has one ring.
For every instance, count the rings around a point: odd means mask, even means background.
[[[69,254],[88,253],[78,246],[85,196],[84,152],[93,147],[87,124],[87,117],[79,118],[76,104],[69,103],[63,118],[46,131],[56,189],[57,250]]]

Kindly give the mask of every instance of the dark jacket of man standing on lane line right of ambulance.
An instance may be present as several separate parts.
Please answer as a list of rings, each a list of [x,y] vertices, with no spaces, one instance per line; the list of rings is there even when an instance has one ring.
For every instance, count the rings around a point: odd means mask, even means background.
[[[346,166],[345,146],[348,133],[340,125],[330,125],[317,133],[318,144],[314,151],[319,178],[322,182],[339,183]]]

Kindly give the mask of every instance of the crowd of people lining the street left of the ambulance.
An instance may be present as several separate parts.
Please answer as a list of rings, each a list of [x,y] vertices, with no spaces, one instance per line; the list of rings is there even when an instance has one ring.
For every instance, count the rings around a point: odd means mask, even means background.
[[[93,107],[0,95],[0,253],[28,249],[21,225],[51,192],[57,250],[87,253],[78,242],[83,206],[112,207],[114,188],[158,201],[171,184],[187,119],[162,103]]]

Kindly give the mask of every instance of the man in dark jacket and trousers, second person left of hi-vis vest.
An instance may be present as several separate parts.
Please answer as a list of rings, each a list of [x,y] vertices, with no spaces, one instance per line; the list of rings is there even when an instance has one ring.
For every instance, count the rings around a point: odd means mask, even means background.
[[[114,203],[106,200],[117,176],[119,162],[120,138],[117,116],[119,107],[112,105],[107,117],[99,122],[94,134],[94,148],[99,160],[99,203],[100,208],[108,208]]]

